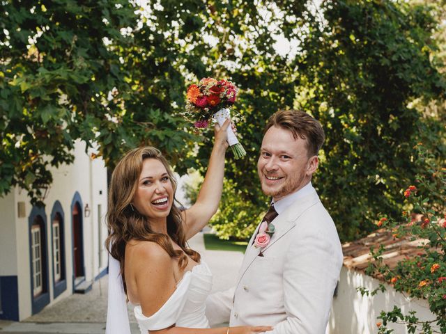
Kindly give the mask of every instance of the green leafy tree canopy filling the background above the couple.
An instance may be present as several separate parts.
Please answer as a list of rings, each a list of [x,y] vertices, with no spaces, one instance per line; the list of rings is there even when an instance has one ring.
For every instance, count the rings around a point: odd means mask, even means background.
[[[203,174],[212,134],[197,140],[176,115],[185,88],[207,76],[240,88],[233,111],[247,157],[229,159],[225,191],[237,184],[237,194],[222,207],[249,212],[253,224],[268,201],[256,176],[262,130],[277,109],[300,108],[323,123],[327,141],[314,185],[342,239],[371,230],[379,212],[397,214],[393,189],[421,168],[412,163],[420,138],[444,144],[444,127],[422,112],[445,95],[433,57],[436,8],[148,2],[2,1],[0,193],[15,184],[38,191],[50,182],[49,165],[71,161],[76,139],[97,143],[109,166],[123,150],[151,144],[180,173],[194,166]],[[234,217],[231,229],[245,223],[233,225]],[[217,224],[227,235],[227,224]]]

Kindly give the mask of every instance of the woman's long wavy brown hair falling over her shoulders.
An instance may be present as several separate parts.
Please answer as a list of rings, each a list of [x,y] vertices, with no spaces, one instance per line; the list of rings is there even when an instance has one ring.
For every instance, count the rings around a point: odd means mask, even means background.
[[[138,180],[141,175],[144,159],[157,159],[167,170],[172,188],[174,189],[174,202],[167,216],[167,234],[183,250],[174,250],[166,234],[153,232],[150,217],[141,215],[130,204],[138,188]],[[175,205],[176,180],[167,160],[156,148],[147,146],[130,150],[118,162],[112,173],[112,181],[109,186],[107,226],[109,236],[105,241],[109,253],[119,261],[121,275],[125,284],[125,245],[130,240],[153,241],[160,245],[170,257],[178,259],[178,267],[184,269],[189,255],[192,260],[199,262],[200,255],[186,245],[183,219],[180,209]],[[183,253],[184,252],[184,253]]]

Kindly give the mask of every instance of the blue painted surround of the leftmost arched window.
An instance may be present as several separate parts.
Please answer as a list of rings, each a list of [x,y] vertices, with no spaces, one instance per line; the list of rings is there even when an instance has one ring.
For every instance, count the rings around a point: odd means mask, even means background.
[[[42,244],[42,283],[43,291],[38,296],[33,295],[34,283],[33,283],[33,255],[31,248],[31,226],[34,219],[40,216],[43,221],[42,231],[40,234],[40,244]],[[29,234],[29,268],[30,268],[30,285],[31,285],[31,314],[35,315],[40,312],[46,305],[49,304],[49,271],[48,271],[48,250],[47,250],[47,214],[45,214],[44,207],[33,206],[31,214],[28,218],[28,234]]]

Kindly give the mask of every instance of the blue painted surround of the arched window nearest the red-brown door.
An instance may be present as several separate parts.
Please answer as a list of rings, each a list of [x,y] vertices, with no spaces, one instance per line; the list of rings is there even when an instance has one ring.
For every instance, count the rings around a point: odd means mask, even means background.
[[[53,209],[51,211],[51,245],[53,247],[53,229],[52,229],[52,222],[54,221],[54,217],[56,214],[61,215],[61,222],[60,222],[60,228],[59,228],[59,239],[61,241],[61,280],[56,282],[54,280],[54,259],[52,261],[52,271],[53,271],[53,298],[56,299],[57,296],[59,296],[62,292],[64,292],[67,289],[67,272],[66,272],[66,256],[65,256],[65,214],[63,213],[63,208],[61,205],[61,202],[59,200],[56,200],[53,205]],[[54,254],[54,249],[52,249],[52,253]]]

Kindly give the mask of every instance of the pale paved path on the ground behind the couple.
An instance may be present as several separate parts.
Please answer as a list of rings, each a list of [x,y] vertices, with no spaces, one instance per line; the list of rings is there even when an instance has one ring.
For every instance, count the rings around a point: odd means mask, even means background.
[[[190,239],[189,244],[201,254],[213,272],[213,292],[229,289],[236,283],[243,253],[206,250],[202,233]],[[105,276],[93,283],[93,288],[88,294],[73,294],[24,321],[0,320],[0,333],[103,334],[107,319],[107,288],[108,276]],[[132,334],[138,334],[139,329],[130,308],[129,319]]]

